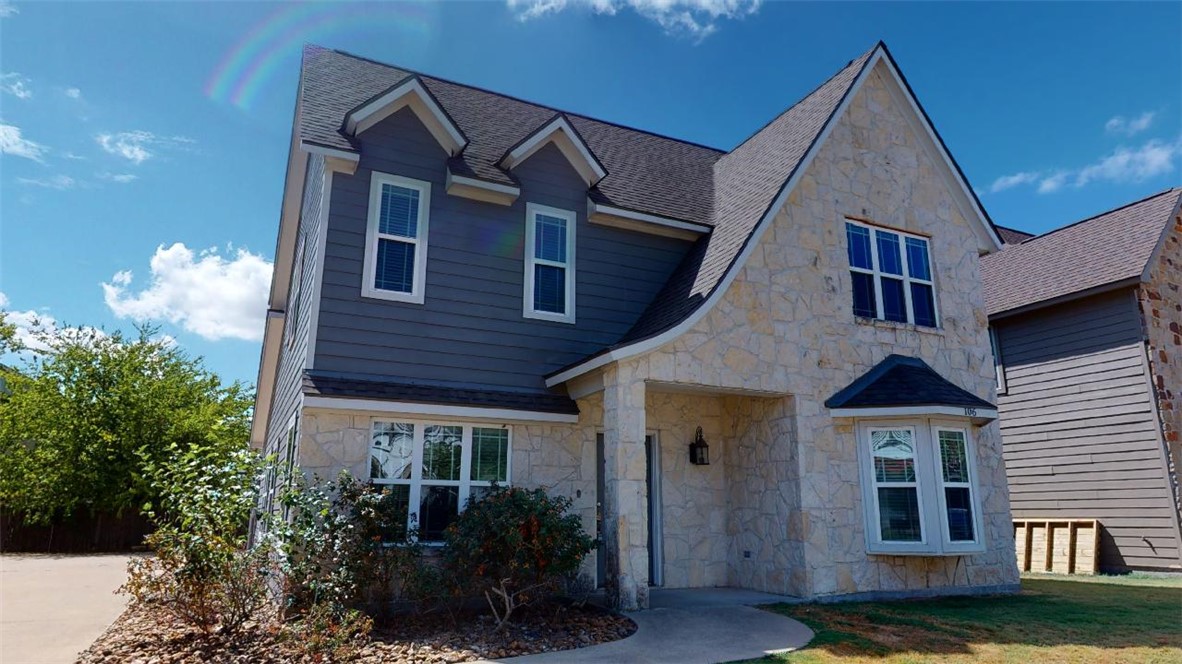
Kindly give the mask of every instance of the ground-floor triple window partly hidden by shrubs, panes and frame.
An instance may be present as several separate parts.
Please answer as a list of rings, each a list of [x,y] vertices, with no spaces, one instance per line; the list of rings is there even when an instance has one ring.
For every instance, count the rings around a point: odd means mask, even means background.
[[[390,489],[407,532],[417,529],[420,541],[441,541],[443,529],[469,500],[508,480],[506,427],[374,422],[370,481]]]

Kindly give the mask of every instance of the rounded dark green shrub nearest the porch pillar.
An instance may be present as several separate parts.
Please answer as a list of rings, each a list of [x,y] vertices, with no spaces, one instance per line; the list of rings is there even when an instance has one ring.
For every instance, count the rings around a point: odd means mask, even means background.
[[[498,629],[517,608],[557,592],[595,548],[570,506],[541,489],[494,487],[444,532],[447,573],[485,597]]]

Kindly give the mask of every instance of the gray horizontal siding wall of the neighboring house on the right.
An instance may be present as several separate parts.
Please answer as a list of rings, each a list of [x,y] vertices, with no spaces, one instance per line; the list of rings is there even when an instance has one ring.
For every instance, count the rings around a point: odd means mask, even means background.
[[[998,404],[1014,517],[1099,519],[1102,566],[1178,567],[1134,293],[993,325],[1006,372]]]

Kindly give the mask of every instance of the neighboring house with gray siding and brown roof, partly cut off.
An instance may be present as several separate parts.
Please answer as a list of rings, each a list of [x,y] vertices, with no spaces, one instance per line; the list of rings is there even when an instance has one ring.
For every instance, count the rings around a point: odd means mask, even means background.
[[[1015,519],[1097,519],[1102,568],[1182,568],[1182,189],[982,260]]]

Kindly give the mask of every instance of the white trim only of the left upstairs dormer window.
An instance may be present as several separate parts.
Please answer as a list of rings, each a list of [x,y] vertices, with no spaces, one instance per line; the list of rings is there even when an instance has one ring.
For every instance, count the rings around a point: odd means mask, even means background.
[[[402,237],[400,235],[382,235],[378,233],[378,222],[382,216],[382,185],[394,184],[418,191],[418,235],[415,239]],[[424,300],[427,286],[427,241],[428,224],[430,222],[431,208],[431,183],[422,180],[413,180],[389,172],[374,171],[370,177],[370,203],[369,220],[365,226],[365,265],[362,271],[362,297],[378,300],[391,300],[396,302],[410,302],[421,305]],[[398,291],[385,291],[374,286],[374,278],[377,271],[377,243],[379,239],[389,239],[415,246],[415,281],[411,284],[409,293]]]

